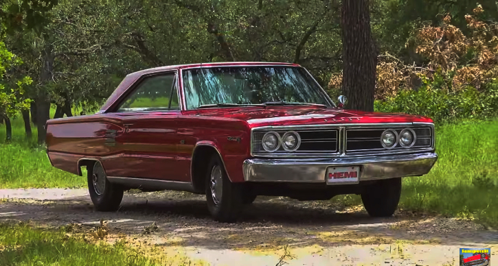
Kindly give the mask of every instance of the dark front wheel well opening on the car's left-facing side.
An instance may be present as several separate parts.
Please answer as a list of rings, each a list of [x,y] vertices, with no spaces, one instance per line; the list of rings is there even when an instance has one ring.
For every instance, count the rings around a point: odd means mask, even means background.
[[[211,156],[219,155],[214,147],[207,145],[196,147],[194,156],[192,156],[192,185],[194,186],[195,191],[198,191],[199,193],[204,193],[205,191],[204,178]]]

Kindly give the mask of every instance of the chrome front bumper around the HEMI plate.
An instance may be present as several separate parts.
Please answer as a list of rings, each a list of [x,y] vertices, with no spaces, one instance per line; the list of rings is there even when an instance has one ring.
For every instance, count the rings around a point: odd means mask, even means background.
[[[361,158],[267,159],[244,161],[247,182],[325,183],[327,167],[359,166],[359,181],[422,176],[429,173],[438,155],[435,153]]]

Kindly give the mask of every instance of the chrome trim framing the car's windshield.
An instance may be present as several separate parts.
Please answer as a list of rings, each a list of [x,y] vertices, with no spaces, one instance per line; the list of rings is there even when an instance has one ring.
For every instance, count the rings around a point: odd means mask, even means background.
[[[293,66],[293,65],[288,65],[288,64],[278,64],[278,63],[275,63],[275,64],[226,64],[226,65],[220,65],[220,66],[210,66],[210,65],[202,66],[201,65],[201,66],[192,66],[192,67],[181,68],[180,71],[179,71],[180,80],[181,80],[181,95],[183,95],[183,97],[182,97],[182,101],[183,101],[183,106],[182,107],[183,108],[181,110],[185,110],[185,111],[187,111],[187,110],[197,110],[197,108],[188,109],[188,106],[187,106],[187,97],[185,97],[185,90],[183,88],[183,71],[188,71],[188,70],[192,70],[192,69],[212,69],[212,68],[218,68],[218,67],[250,67],[250,66],[253,66],[253,67],[261,67],[261,66],[283,67],[283,66],[285,66],[285,67],[288,67],[288,68],[303,69],[306,72],[306,74],[308,74],[308,76],[311,78],[311,80],[313,80],[313,82],[315,82],[315,85],[318,86],[321,95],[331,105],[330,108],[337,108],[337,105],[335,104],[335,102],[332,101],[332,98],[330,98],[330,96],[328,96],[327,92],[324,90],[324,88],[322,88],[320,86],[320,84],[317,82],[317,80],[315,80],[315,77],[313,77],[313,75],[311,75],[311,73],[310,73],[310,71],[308,71],[308,69],[304,68],[303,66]]]

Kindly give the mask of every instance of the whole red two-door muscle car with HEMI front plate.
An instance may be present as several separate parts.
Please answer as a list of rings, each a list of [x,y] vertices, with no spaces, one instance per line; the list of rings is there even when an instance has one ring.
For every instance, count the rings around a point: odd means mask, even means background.
[[[47,122],[54,167],[82,175],[96,210],[127,189],[205,194],[217,221],[258,195],[361,195],[373,217],[398,206],[401,178],[438,156],[427,117],[343,110],[298,64],[230,62],[127,75],[95,114]]]

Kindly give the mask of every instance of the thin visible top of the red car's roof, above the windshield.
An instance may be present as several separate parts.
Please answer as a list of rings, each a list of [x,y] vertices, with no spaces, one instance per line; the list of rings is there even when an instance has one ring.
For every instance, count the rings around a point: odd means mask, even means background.
[[[174,64],[171,66],[158,66],[152,69],[144,69],[141,71],[129,73],[128,75],[144,75],[147,73],[168,71],[173,69],[192,69],[198,67],[213,67],[213,66],[300,66],[299,64],[285,62],[210,62],[196,64]]]

